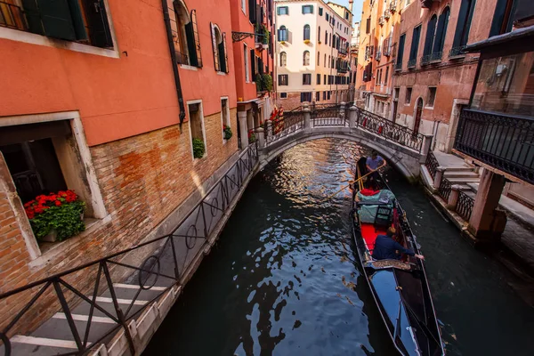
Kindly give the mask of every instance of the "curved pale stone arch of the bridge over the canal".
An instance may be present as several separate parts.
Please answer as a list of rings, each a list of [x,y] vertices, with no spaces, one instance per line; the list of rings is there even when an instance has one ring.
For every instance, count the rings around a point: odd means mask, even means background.
[[[263,169],[264,166],[267,166],[271,160],[277,158],[280,154],[296,145],[324,138],[337,138],[356,142],[371,150],[376,150],[382,157],[384,157],[388,165],[391,165],[400,171],[409,182],[417,180],[417,176],[419,175],[420,157],[417,151],[403,148],[392,142],[382,143],[381,141],[376,140],[375,137],[368,137],[370,134],[365,132],[359,133],[359,131],[360,130],[351,130],[348,127],[339,127],[333,132],[331,128],[325,127],[323,129],[315,128],[311,133],[299,132],[288,135],[287,137],[279,139],[278,142],[271,143],[262,150],[259,170]]]

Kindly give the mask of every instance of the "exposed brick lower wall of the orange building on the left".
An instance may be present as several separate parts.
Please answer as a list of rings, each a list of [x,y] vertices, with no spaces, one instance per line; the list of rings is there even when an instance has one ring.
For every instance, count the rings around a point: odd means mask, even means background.
[[[91,148],[109,223],[101,223],[90,234],[83,233],[61,242],[34,261],[22,236],[24,222],[19,223],[15,216],[18,209],[22,209],[20,199],[14,193],[12,182],[5,179],[9,178],[9,173],[1,159],[0,293],[132,247],[144,239],[238,150],[236,108],[231,109],[234,135],[226,143],[223,143],[221,113],[204,120],[207,156],[195,161],[190,149],[188,123],[183,124],[182,134],[178,125],[172,125]],[[94,271],[70,276],[69,283],[80,289],[88,288],[93,283]],[[34,293],[36,290],[0,301],[0,328],[4,328],[14,312],[20,311]],[[50,299],[43,300],[20,320],[19,325],[24,329],[35,328],[51,312],[57,312],[57,306]]]

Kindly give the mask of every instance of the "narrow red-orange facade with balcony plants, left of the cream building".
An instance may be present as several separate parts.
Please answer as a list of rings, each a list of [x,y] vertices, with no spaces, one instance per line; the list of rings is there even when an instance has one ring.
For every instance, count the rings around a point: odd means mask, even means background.
[[[244,132],[270,117],[274,107],[273,0],[231,0],[236,90]],[[239,137],[242,146],[247,136]]]

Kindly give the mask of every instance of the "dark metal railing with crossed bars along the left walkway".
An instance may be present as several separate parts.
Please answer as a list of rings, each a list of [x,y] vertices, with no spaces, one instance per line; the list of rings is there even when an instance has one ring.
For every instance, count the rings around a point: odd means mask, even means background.
[[[66,320],[69,341],[75,345],[75,351],[65,355],[87,354],[94,346],[109,342],[121,328],[130,352],[141,352],[134,348],[128,327],[131,320],[171,288],[182,286],[257,162],[257,146],[251,144],[172,233],[0,295],[0,304],[10,305],[14,315],[0,321],[0,352],[9,356],[10,339],[46,328],[57,312]],[[133,291],[127,300],[119,293],[125,287]],[[82,319],[79,314],[84,314]],[[93,325],[103,319],[107,328]]]

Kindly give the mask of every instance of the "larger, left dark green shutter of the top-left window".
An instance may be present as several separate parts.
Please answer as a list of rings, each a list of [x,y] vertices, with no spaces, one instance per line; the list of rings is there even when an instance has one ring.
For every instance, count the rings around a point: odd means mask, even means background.
[[[37,0],[44,36],[69,41],[77,39],[67,0]]]

